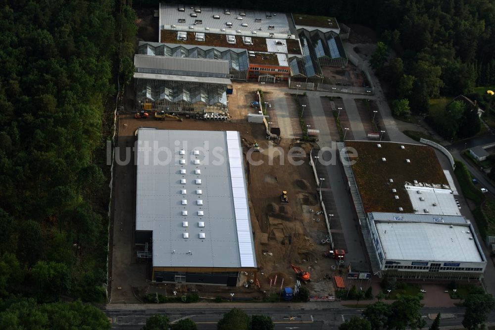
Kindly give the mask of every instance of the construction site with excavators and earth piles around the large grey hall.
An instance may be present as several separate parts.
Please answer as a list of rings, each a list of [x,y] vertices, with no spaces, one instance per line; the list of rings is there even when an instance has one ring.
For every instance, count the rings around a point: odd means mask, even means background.
[[[114,273],[114,283],[119,281],[116,277],[125,275],[134,281],[142,276],[142,284],[132,292],[138,296],[155,292],[166,294],[167,290],[174,288],[179,292],[198,291],[205,297],[227,298],[231,293],[239,293],[239,296],[262,299],[280,293],[282,286],[294,288],[299,278],[299,282],[309,289],[311,296],[334,296],[334,276],[344,272],[345,267],[342,263],[340,269],[337,269],[339,260],[329,254],[331,244],[318,201],[318,187],[312,168],[308,164],[307,155],[313,147],[310,143],[293,139],[281,139],[276,143],[268,141],[261,124],[248,124],[245,121],[235,123],[232,120],[206,121],[171,115],[161,116],[160,113],[148,116],[121,114],[119,127],[119,140],[122,143],[129,140],[126,145],[133,140],[135,131],[140,127],[240,132],[257,272],[240,273],[238,285],[235,287],[188,283],[150,285],[146,281],[146,274],[149,275],[147,262],[132,257],[130,265],[116,265],[115,262],[119,261],[114,260],[113,266],[120,268],[118,274]],[[292,153],[291,163],[288,155],[289,150],[294,147],[298,148]],[[302,164],[293,165],[297,161],[302,161]],[[118,167],[118,171],[129,172],[121,172],[123,177],[132,175],[132,168]],[[116,199],[125,203],[127,208],[132,208],[134,189],[134,185],[116,189]],[[127,211],[126,217],[134,213],[132,210]],[[122,213],[124,212],[125,210],[122,210]],[[123,223],[128,221],[132,220],[123,221],[121,225],[124,226]],[[129,250],[128,243],[114,242],[114,245],[114,254],[119,250],[118,253],[128,253],[125,252]],[[344,258],[344,255],[340,258]],[[129,272],[136,274],[131,275]],[[120,282],[127,280],[122,277]]]

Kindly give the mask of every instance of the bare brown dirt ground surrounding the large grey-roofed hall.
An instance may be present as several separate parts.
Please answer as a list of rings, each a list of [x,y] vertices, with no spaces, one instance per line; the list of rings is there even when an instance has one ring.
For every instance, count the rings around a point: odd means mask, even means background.
[[[230,297],[229,293],[238,293],[240,297],[264,297],[270,293],[270,278],[277,275],[277,286],[282,279],[284,286],[294,286],[296,274],[291,268],[295,264],[311,274],[307,283],[311,295],[333,295],[334,288],[325,275],[330,273],[334,265],[331,259],[321,255],[328,250],[328,244],[321,244],[327,232],[323,216],[315,216],[320,211],[317,201],[316,184],[307,157],[301,158],[303,165],[291,165],[287,154],[290,147],[298,146],[309,152],[311,145],[299,143],[293,139],[282,139],[280,147],[283,156],[278,152],[268,151],[268,143],[261,124],[247,122],[211,122],[196,119],[179,121],[156,121],[135,119],[132,113],[120,114],[119,146],[131,147],[134,133],[139,127],[159,129],[191,129],[191,130],[237,130],[246,141],[257,140],[261,153],[252,154],[255,161],[263,161],[262,165],[246,165],[248,181],[248,199],[250,203],[251,223],[254,234],[256,258],[258,263],[257,278],[260,288],[249,283],[254,279],[251,274],[241,276],[240,287],[224,287],[211,285],[176,285],[175,283],[151,284],[147,281],[149,264],[140,263],[133,248],[133,232],[135,228],[135,166],[117,166],[115,175],[115,215],[113,228],[113,264],[112,264],[112,302],[136,301],[149,292],[169,294],[173,290],[197,290],[201,296]],[[248,147],[245,146],[246,153]],[[272,150],[273,151],[273,150]],[[124,155],[121,156],[121,159]],[[271,161],[270,161],[271,160]],[[283,163],[281,163],[283,160]],[[270,165],[272,164],[272,165]],[[280,193],[287,190],[289,204],[282,204]],[[309,209],[313,210],[310,213]],[[316,220],[316,219],[319,219]],[[244,284],[248,284],[245,287]],[[272,287],[272,293],[278,290]]]

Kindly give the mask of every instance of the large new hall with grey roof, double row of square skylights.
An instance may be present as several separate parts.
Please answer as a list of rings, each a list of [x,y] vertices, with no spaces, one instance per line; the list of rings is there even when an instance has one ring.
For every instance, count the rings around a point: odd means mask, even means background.
[[[255,272],[237,131],[139,129],[136,244],[151,280],[236,286]],[[149,247],[150,251],[149,251]]]

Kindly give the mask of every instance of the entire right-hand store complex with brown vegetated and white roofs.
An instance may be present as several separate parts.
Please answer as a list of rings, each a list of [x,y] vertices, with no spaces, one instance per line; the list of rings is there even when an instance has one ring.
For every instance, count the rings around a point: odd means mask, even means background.
[[[372,141],[338,146],[374,274],[483,276],[487,260],[457,205],[454,181],[430,146]],[[349,159],[344,148],[353,148],[357,158]]]

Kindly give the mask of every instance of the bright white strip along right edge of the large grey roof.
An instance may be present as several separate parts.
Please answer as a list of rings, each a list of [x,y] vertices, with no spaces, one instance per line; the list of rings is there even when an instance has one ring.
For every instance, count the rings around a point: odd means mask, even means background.
[[[255,267],[256,257],[249,219],[249,207],[247,205],[247,189],[242,163],[240,136],[237,131],[227,131],[226,136],[241,265],[242,267]]]

